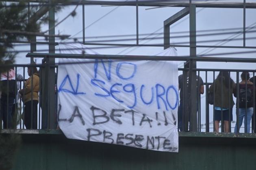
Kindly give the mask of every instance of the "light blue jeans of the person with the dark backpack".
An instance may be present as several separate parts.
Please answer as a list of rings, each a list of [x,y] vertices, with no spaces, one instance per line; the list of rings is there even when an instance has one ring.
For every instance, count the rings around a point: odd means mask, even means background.
[[[242,123],[245,125],[245,120],[243,122],[243,119],[246,118],[247,128],[245,129],[246,130],[245,133],[250,132],[250,124],[251,124],[252,115],[253,115],[253,107],[247,108],[247,117],[245,117],[245,108],[239,108],[239,130],[240,130]],[[237,122],[236,122],[236,125],[237,125]],[[237,127],[235,126],[234,133],[237,132],[236,128]]]

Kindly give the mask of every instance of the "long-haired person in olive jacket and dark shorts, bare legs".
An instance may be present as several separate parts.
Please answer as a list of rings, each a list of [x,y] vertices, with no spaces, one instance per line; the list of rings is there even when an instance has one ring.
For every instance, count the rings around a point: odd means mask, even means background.
[[[224,132],[229,132],[229,123],[233,120],[232,108],[234,106],[233,91],[236,88],[234,81],[227,71],[219,72],[209,88],[210,93],[214,93],[214,125],[215,132],[219,132],[219,122],[223,119]],[[229,114],[230,113],[230,114]]]

